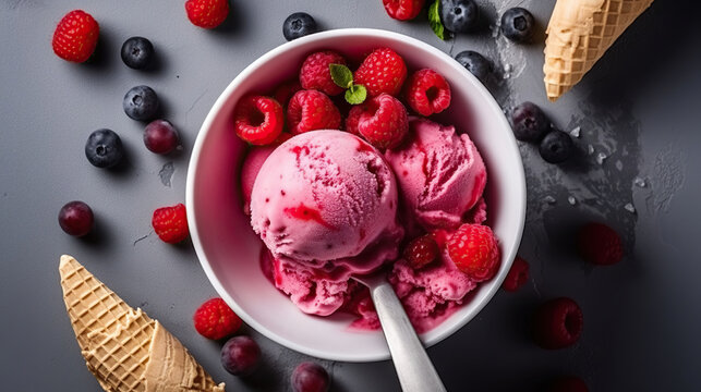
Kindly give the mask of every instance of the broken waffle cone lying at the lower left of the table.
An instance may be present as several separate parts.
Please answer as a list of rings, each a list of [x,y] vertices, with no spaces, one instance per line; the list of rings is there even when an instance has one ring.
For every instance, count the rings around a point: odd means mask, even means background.
[[[223,392],[157,320],[126,305],[71,256],[63,301],[87,368],[108,392]]]

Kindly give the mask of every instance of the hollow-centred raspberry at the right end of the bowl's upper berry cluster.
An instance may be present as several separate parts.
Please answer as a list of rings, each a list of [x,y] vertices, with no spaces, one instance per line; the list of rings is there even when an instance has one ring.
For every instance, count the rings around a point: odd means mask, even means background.
[[[421,115],[440,113],[450,106],[450,86],[436,71],[419,70],[409,77],[407,101]]]

